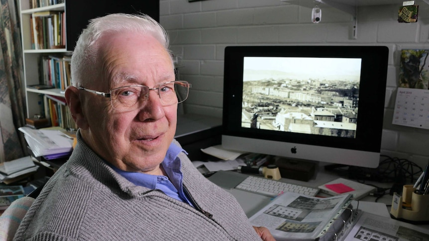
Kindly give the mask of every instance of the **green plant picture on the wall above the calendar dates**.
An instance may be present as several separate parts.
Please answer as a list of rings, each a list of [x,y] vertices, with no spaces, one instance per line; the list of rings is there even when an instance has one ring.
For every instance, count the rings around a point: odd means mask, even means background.
[[[428,89],[429,50],[404,49],[401,51],[399,87]]]

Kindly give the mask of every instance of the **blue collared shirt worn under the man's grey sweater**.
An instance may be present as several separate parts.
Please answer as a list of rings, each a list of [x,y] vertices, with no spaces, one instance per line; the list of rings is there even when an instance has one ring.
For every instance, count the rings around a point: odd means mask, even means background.
[[[123,171],[111,164],[109,165],[117,173],[137,186],[144,186],[150,189],[159,189],[172,198],[192,205],[188,197],[183,192],[183,173],[180,170],[180,159],[177,157],[181,152],[186,153],[185,150],[176,146],[175,144],[170,144],[164,161],[161,162],[161,165],[168,176]]]

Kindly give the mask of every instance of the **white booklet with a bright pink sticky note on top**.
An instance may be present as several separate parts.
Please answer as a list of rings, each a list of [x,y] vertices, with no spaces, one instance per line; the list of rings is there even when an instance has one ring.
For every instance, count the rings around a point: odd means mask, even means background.
[[[344,178],[337,178],[319,186],[321,192],[336,196],[340,194],[353,194],[355,200],[359,200],[370,193],[375,192],[376,188],[357,181]]]

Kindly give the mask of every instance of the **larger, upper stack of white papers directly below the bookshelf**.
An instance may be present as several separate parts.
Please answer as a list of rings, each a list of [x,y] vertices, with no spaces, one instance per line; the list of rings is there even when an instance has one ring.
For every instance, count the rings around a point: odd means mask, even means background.
[[[71,153],[73,139],[65,137],[59,130],[35,130],[20,127],[24,138],[33,152],[34,157]]]

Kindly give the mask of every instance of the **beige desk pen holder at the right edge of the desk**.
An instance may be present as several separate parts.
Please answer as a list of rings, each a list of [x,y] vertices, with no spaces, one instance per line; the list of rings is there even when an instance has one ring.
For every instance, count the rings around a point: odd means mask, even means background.
[[[393,194],[392,216],[408,221],[429,221],[429,195],[417,194],[415,190],[413,185],[404,185],[402,197],[396,192]]]

